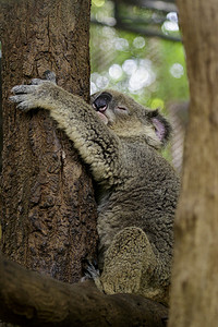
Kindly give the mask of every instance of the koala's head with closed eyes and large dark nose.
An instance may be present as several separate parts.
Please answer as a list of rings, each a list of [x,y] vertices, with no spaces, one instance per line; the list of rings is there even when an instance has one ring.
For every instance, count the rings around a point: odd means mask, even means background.
[[[149,110],[131,97],[116,90],[104,90],[90,97],[98,117],[120,137],[140,137],[159,148],[171,133],[171,125],[158,110]]]

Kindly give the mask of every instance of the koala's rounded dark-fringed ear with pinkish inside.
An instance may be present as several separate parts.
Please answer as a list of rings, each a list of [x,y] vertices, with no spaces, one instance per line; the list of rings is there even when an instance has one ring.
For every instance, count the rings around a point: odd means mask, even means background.
[[[167,144],[171,136],[172,128],[167,119],[157,110],[150,111],[150,121],[155,128],[156,135],[160,140],[162,146]]]

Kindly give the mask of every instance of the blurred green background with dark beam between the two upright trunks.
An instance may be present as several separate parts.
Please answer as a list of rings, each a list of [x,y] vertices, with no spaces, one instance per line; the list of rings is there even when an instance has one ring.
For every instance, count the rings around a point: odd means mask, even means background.
[[[90,64],[90,93],[114,88],[170,116],[167,157],[181,171],[189,84],[174,1],[93,0]]]

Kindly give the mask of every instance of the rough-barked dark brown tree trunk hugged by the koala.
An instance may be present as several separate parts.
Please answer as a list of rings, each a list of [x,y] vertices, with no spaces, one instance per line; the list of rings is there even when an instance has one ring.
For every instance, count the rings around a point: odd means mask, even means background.
[[[16,84],[57,74],[88,99],[90,1],[0,0],[3,80],[1,249],[27,268],[75,282],[82,258],[96,252],[90,178],[73,144],[48,113],[22,113],[9,102]]]

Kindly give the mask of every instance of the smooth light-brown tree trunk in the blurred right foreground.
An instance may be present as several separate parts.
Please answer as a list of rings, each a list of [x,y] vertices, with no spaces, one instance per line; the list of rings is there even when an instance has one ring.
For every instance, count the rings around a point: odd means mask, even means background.
[[[175,219],[170,327],[218,322],[218,12],[178,0],[190,78],[183,189]]]

